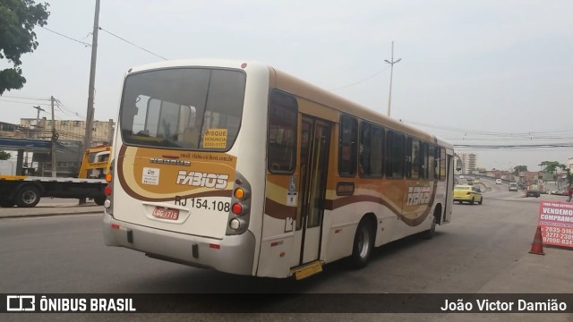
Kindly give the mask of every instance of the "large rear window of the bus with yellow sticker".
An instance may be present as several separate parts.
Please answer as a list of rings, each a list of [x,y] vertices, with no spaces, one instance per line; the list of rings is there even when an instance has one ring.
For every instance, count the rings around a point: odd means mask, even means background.
[[[243,71],[171,68],[128,75],[120,110],[126,144],[227,151],[243,115]]]

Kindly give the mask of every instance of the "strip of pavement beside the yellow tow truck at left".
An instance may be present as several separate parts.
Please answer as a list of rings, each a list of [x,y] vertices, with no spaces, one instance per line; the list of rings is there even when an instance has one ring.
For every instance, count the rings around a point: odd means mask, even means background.
[[[43,198],[33,208],[0,208],[0,219],[27,216],[78,215],[103,213],[104,207],[96,205],[93,200],[80,205],[78,199]]]

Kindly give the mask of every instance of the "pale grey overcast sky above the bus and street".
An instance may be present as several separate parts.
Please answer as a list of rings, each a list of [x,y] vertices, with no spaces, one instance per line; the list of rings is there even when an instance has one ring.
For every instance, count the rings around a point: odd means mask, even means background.
[[[47,3],[0,121],[38,105],[49,119],[50,96],[56,119],[85,120],[96,1]],[[394,42],[391,117],[488,170],[538,171],[573,157],[571,13],[569,0],[101,0],[95,120],[116,118],[129,68],[165,58],[259,61],[387,114]]]

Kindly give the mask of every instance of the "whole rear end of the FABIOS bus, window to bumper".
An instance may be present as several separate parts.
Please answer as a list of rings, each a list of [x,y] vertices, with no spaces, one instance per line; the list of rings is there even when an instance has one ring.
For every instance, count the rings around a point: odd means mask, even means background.
[[[128,73],[104,219],[108,246],[254,274],[257,232],[248,229],[253,193],[235,151],[242,146],[240,128],[259,123],[264,129],[265,115],[242,123],[246,79],[240,66]],[[256,172],[256,162],[243,164],[246,174]]]

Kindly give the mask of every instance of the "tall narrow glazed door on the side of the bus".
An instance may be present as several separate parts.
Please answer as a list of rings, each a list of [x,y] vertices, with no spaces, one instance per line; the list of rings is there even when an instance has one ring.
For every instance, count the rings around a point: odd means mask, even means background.
[[[300,135],[300,196],[295,220],[295,250],[300,246],[300,254],[298,258],[293,258],[295,265],[317,260],[320,256],[330,128],[330,123],[326,121],[303,116]]]

